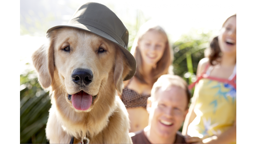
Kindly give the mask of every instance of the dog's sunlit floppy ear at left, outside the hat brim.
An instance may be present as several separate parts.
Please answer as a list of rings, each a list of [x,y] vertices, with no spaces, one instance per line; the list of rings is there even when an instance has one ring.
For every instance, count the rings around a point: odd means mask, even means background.
[[[32,54],[33,65],[38,72],[38,81],[43,88],[50,87],[54,76],[54,41],[42,45]]]

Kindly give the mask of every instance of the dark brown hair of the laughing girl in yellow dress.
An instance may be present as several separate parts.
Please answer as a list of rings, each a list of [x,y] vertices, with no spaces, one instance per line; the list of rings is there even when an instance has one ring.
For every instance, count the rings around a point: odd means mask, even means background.
[[[233,17],[233,16],[236,17],[236,14],[232,15],[230,17]],[[226,19],[226,21],[223,23],[222,27],[224,26],[224,24],[227,22],[227,20],[229,18]],[[212,39],[210,47],[205,50],[205,57],[209,58],[209,62],[211,65],[216,65],[217,63],[220,62],[221,50],[220,50],[220,46],[219,46],[218,36],[216,36]]]

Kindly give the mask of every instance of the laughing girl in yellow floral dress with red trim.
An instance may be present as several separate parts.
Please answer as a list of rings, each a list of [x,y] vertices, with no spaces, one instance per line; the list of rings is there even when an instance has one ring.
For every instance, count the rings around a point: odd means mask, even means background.
[[[236,143],[236,15],[224,22],[208,58],[200,60],[195,84],[182,130],[186,142]]]

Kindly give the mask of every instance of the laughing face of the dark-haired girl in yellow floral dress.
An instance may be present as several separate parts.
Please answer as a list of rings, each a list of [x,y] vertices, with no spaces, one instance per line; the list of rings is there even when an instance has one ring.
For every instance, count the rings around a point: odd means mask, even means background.
[[[236,55],[236,16],[230,17],[223,25],[218,41],[223,54]]]

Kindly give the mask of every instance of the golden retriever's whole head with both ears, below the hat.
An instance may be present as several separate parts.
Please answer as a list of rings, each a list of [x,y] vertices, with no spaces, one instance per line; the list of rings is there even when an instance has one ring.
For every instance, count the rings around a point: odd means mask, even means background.
[[[111,85],[122,92],[131,68],[116,44],[68,27],[53,30],[48,39],[32,55],[43,88],[51,86],[77,112],[90,111]]]

